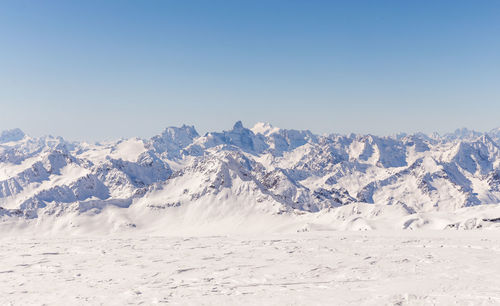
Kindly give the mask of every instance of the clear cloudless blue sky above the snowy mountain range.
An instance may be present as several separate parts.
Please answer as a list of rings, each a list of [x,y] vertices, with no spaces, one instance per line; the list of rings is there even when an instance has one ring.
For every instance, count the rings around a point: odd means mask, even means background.
[[[1,1],[0,129],[500,126],[500,1]]]

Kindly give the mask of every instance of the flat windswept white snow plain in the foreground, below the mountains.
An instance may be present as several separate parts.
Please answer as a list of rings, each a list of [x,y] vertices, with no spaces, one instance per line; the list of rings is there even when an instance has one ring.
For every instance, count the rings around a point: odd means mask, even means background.
[[[498,305],[500,232],[9,236],[1,305]]]

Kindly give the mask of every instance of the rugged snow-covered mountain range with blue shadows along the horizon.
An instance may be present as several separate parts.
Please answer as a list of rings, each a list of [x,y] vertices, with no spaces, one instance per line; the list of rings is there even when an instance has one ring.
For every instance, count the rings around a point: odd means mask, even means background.
[[[200,136],[169,127],[107,143],[0,133],[0,216],[319,212],[369,203],[408,214],[500,203],[500,129],[424,134],[315,135],[238,121]]]

